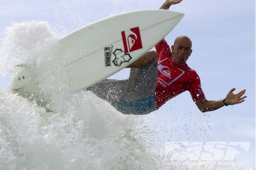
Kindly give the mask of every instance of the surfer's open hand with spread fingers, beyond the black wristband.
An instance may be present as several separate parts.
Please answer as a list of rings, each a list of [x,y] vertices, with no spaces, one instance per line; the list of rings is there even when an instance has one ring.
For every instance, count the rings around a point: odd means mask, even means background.
[[[233,94],[233,91],[235,91],[236,88],[232,88],[227,96],[226,96],[226,103],[227,105],[236,105],[236,104],[239,104],[241,102],[244,102],[244,99],[247,97],[247,96],[243,96],[244,93],[245,93],[245,90],[242,90],[240,91],[238,94]]]

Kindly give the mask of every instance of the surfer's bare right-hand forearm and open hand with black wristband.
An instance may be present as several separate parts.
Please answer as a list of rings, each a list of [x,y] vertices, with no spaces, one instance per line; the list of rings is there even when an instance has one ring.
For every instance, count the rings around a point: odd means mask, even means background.
[[[226,98],[218,101],[210,101],[207,100],[206,98],[201,98],[195,101],[195,104],[197,107],[200,109],[202,112],[207,112],[207,111],[215,111],[224,105],[236,105],[241,102],[244,102],[244,99],[247,96],[243,96],[245,93],[245,90],[240,91],[238,94],[233,94],[233,91],[235,91],[236,88],[231,89]]]

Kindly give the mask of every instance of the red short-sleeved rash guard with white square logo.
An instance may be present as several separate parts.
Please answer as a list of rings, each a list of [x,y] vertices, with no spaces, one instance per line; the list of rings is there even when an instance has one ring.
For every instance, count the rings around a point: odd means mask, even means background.
[[[204,97],[198,74],[185,63],[177,64],[172,59],[170,46],[162,40],[155,46],[158,54],[158,78],[155,101],[160,108],[169,99],[189,91],[193,101]]]

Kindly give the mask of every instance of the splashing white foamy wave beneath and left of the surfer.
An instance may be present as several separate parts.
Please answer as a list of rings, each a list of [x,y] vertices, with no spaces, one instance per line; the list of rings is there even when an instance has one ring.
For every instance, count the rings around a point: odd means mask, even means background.
[[[47,22],[6,28],[1,73],[29,65],[41,95],[35,102],[0,90],[0,170],[247,169],[232,161],[167,160],[154,114],[123,115],[90,92],[69,94],[56,77],[47,77],[47,68],[55,67],[48,50],[59,38]]]

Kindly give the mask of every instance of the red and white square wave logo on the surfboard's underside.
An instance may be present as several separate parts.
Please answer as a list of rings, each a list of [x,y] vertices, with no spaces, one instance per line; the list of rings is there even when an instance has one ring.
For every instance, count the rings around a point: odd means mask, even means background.
[[[129,53],[131,51],[135,51],[143,48],[139,27],[122,31],[121,34],[122,34],[122,41],[124,44],[125,53]]]

